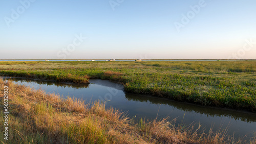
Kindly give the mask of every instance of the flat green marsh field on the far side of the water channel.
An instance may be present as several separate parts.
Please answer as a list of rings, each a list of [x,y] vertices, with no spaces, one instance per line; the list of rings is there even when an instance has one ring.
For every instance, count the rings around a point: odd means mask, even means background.
[[[74,83],[110,79],[127,92],[256,112],[255,61],[0,62],[0,73]]]

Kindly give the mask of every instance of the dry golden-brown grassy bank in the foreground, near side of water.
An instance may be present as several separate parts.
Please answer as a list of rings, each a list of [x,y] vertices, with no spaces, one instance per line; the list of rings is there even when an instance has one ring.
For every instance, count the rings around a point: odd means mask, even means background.
[[[95,102],[82,101],[44,91],[32,90],[0,80],[1,95],[8,86],[8,140],[2,143],[236,143],[223,133],[198,134],[200,129],[174,127],[163,121],[143,121],[134,124],[115,109],[105,109]],[[1,104],[4,98],[0,97]],[[0,115],[3,117],[4,106]],[[0,119],[4,131],[4,118]],[[200,126],[199,126],[200,127]],[[251,142],[252,143],[252,142]]]

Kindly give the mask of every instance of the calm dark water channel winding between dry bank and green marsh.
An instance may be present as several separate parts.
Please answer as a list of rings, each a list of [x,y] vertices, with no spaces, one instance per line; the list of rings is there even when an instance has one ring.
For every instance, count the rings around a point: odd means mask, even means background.
[[[4,77],[2,77],[4,78]],[[7,77],[5,77],[7,78]],[[113,107],[127,112],[130,117],[158,119],[169,116],[169,121],[176,118],[176,123],[189,125],[200,124],[208,131],[213,128],[217,131],[219,128],[228,128],[228,134],[236,138],[244,135],[253,136],[256,132],[256,114],[201,107],[193,104],[179,103],[166,99],[150,97],[148,95],[138,95],[125,93],[123,86],[112,83],[108,80],[90,80],[89,85],[58,83],[54,81],[41,81],[15,78],[12,80],[17,84],[23,84],[35,89],[42,89],[48,93],[55,93],[61,97],[75,97],[94,102],[101,100],[106,102],[106,107]],[[202,130],[202,129],[201,129]]]

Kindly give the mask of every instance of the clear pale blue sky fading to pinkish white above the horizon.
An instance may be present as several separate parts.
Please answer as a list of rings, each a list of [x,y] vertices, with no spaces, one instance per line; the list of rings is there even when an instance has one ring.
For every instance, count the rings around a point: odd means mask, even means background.
[[[255,0],[0,0],[0,59],[256,59]]]

